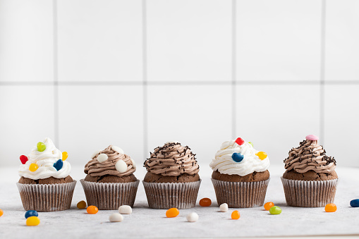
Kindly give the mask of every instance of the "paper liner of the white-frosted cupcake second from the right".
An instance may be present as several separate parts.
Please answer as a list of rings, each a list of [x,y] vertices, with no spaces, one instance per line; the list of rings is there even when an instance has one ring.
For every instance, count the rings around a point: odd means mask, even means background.
[[[212,178],[217,203],[228,204],[228,207],[261,207],[269,183],[267,180],[259,182],[229,182]]]

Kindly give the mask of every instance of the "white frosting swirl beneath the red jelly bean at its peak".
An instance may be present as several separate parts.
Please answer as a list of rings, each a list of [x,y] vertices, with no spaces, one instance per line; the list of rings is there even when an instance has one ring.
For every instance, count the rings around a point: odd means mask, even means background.
[[[239,163],[232,159],[232,154],[235,152],[243,155],[243,160]],[[209,166],[213,171],[218,170],[219,173],[229,175],[246,176],[253,172],[264,172],[269,168],[269,158],[261,160],[255,155],[257,152],[248,142],[238,145],[236,140],[226,141]]]

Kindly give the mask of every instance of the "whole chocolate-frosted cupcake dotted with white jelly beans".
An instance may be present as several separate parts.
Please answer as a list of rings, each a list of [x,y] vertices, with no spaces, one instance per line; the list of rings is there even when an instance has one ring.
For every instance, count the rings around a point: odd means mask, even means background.
[[[85,165],[85,179],[80,180],[88,205],[116,210],[121,205],[133,207],[138,180],[136,164],[120,147],[110,145],[92,155]]]

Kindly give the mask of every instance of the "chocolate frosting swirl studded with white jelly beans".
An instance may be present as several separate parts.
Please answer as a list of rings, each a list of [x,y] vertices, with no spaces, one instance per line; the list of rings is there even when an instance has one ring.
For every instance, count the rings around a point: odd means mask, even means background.
[[[102,163],[97,160],[99,154],[107,154],[108,159]],[[123,160],[127,164],[127,170],[124,173],[120,173],[116,170],[116,162],[118,160]],[[112,145],[106,149],[95,154],[95,157],[92,157],[90,161],[85,165],[85,173],[89,174],[92,177],[105,176],[105,175],[114,175],[118,177],[128,176],[136,171],[135,164],[133,159],[131,159],[127,154],[120,154],[112,149]]]

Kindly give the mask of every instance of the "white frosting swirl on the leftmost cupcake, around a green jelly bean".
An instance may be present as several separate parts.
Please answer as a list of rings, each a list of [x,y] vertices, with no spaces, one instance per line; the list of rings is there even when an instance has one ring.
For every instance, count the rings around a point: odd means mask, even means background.
[[[62,153],[59,149],[56,149],[54,143],[45,138],[44,142],[46,149],[43,152],[39,152],[35,146],[32,152],[28,155],[28,161],[25,164],[21,164],[18,173],[20,177],[31,178],[33,180],[43,178],[66,178],[71,171],[71,165],[68,161],[63,161],[62,168],[57,171],[54,168],[54,164],[59,159],[62,159]],[[30,164],[37,164],[39,168],[35,172],[30,171]]]

